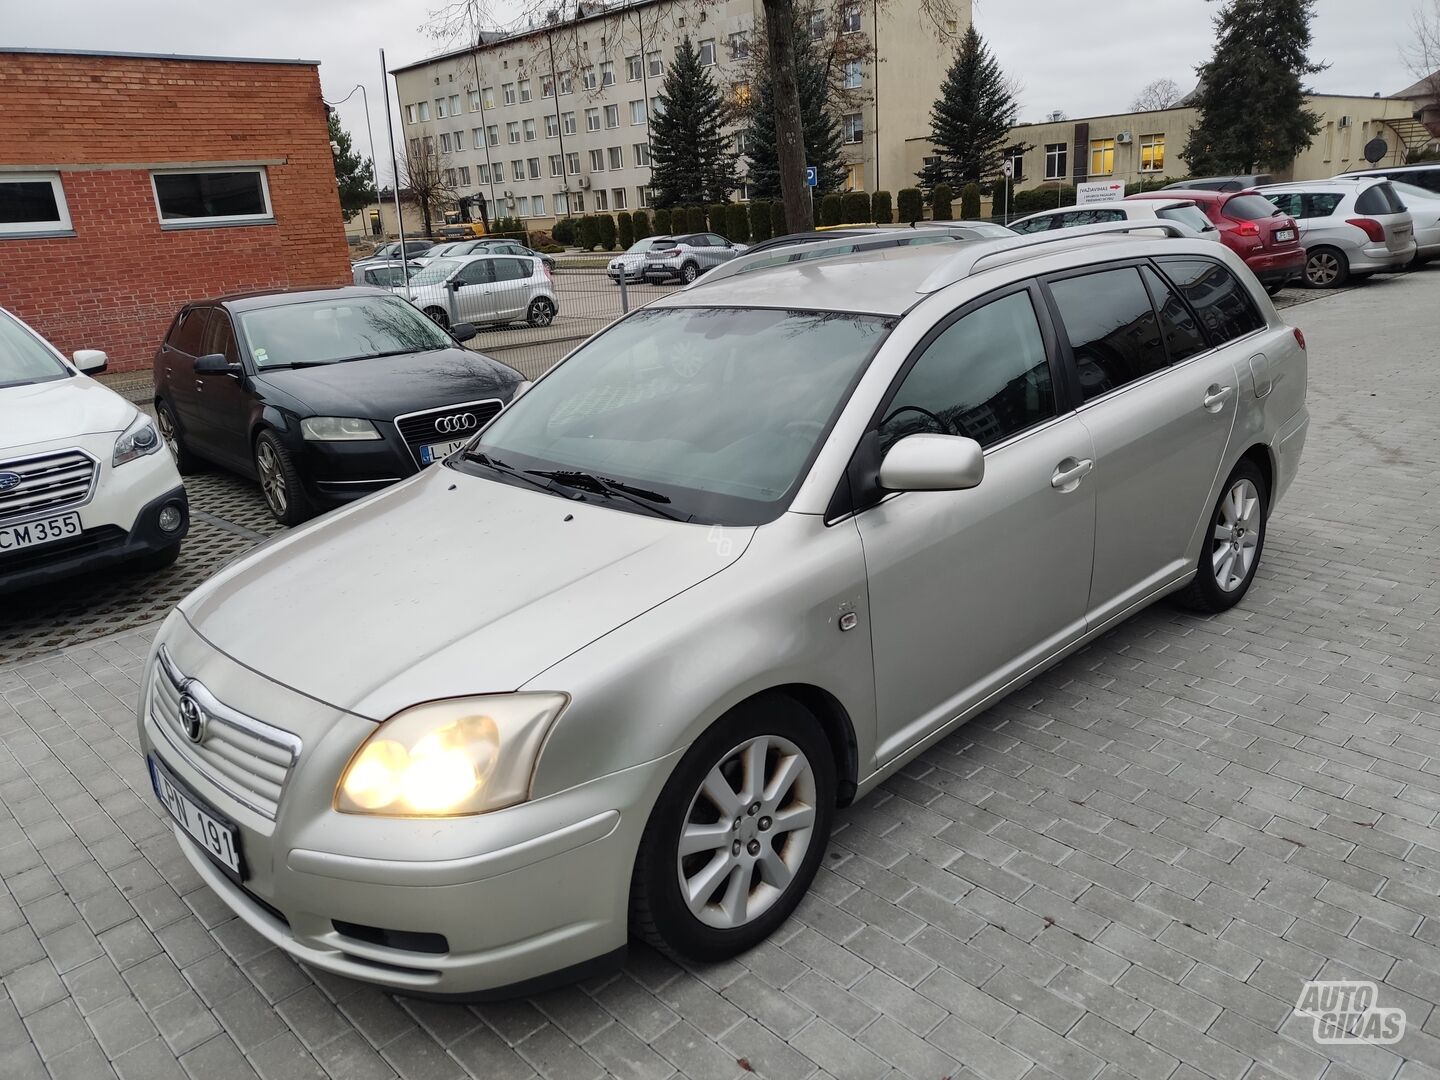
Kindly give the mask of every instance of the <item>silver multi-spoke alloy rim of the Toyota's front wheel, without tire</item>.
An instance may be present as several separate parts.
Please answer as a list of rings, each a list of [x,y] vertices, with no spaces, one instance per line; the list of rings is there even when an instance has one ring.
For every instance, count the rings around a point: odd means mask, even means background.
[[[680,894],[706,926],[733,930],[779,900],[815,835],[816,780],[805,752],[762,734],[710,769],[680,831]]]

